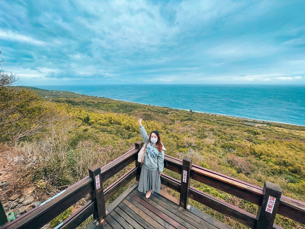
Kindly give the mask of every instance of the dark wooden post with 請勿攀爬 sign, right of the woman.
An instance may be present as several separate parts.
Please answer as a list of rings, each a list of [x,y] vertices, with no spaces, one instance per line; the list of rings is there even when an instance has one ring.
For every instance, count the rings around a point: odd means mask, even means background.
[[[265,181],[262,206],[257,212],[257,229],[272,229],[282,195],[281,187]]]

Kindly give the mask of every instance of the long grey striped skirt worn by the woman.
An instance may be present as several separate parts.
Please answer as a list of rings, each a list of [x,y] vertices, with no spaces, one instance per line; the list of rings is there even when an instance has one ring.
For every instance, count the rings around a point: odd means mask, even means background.
[[[146,192],[149,189],[152,190],[152,193],[154,192],[158,194],[160,193],[160,189],[161,189],[160,175],[158,169],[151,170],[145,168],[145,166],[142,165],[138,191],[146,194]]]

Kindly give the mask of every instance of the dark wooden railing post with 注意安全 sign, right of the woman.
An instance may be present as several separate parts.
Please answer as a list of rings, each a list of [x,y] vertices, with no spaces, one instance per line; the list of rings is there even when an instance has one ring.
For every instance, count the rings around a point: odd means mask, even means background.
[[[190,170],[192,167],[193,158],[184,157],[182,160],[181,174],[181,191],[180,191],[180,207],[187,208],[188,206],[188,190],[190,188]]]

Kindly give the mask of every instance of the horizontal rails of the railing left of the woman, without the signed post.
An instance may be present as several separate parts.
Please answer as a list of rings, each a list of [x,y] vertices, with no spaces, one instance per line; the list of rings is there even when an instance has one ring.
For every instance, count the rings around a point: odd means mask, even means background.
[[[131,162],[135,161],[137,157],[138,149],[132,149],[127,153],[121,155],[119,158],[113,160],[109,164],[102,167],[102,177],[107,180],[111,176],[118,173],[120,170],[124,169]],[[122,184],[127,184],[130,180],[135,177],[136,168],[134,167],[104,192],[106,194],[106,199],[111,198],[118,190],[115,190],[117,187],[121,187]],[[124,186],[124,185],[123,185]],[[18,229],[18,228],[40,228],[47,224],[49,221],[54,219],[60,213],[68,209],[78,200],[83,198],[85,195],[89,194],[94,190],[93,179],[90,176],[85,177],[84,179],[78,181],[77,183],[66,188],[56,196],[48,199],[41,205],[38,205],[29,212],[18,217],[16,220],[5,224],[2,228],[7,229]],[[64,224],[61,224],[59,228],[66,228],[67,225],[70,225],[73,219],[76,224],[79,222],[79,219],[82,219],[83,214],[92,214],[92,206],[94,202],[87,203],[83,208],[79,209],[76,213],[71,215]],[[67,222],[69,221],[69,224]],[[75,223],[74,223],[75,224]]]

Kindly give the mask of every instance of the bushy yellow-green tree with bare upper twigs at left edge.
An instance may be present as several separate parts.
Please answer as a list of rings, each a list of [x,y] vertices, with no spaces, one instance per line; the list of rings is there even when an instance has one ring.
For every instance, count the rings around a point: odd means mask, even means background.
[[[1,53],[1,52],[0,52]],[[4,60],[1,59],[0,64]],[[18,141],[44,131],[62,120],[51,103],[38,100],[36,92],[11,85],[19,78],[0,71],[0,141]]]

